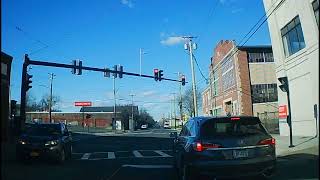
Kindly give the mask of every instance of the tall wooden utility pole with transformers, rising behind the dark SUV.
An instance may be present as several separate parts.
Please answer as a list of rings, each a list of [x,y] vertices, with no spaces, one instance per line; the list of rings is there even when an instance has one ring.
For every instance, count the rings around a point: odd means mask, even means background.
[[[193,91],[193,106],[194,106],[194,116],[198,116],[198,106],[197,106],[197,89],[196,89],[196,77],[193,65],[193,53],[192,49],[196,49],[196,45],[192,44],[193,36],[183,36],[182,38],[187,39],[189,42],[185,44],[185,49],[189,50],[190,64],[191,64],[191,74],[192,74],[192,91]]]

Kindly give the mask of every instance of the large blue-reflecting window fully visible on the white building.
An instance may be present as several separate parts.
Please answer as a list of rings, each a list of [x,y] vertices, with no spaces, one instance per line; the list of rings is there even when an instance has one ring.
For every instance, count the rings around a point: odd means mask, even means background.
[[[286,57],[306,46],[299,16],[295,17],[289,24],[281,29],[281,36]]]

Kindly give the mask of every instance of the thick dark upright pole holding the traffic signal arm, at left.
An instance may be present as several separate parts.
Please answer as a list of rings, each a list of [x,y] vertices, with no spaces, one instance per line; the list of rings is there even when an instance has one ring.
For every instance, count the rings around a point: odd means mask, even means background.
[[[27,96],[27,68],[29,65],[29,57],[24,55],[24,63],[22,67],[22,80],[21,80],[21,101],[20,101],[20,121],[16,124],[18,133],[24,128],[26,121],[26,96]]]

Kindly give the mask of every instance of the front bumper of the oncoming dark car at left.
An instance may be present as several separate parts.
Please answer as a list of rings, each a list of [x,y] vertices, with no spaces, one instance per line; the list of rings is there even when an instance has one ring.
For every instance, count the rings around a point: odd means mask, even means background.
[[[17,156],[27,159],[57,159],[60,156],[61,146],[51,146],[44,148],[17,147]]]

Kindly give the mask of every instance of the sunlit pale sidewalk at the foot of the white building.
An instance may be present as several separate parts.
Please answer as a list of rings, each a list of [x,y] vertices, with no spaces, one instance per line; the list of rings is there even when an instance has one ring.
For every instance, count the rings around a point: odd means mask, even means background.
[[[279,134],[272,134],[276,139],[276,154],[277,156],[285,156],[289,154],[295,154],[297,151],[316,148],[319,152],[319,136],[318,137],[306,137],[306,136],[293,136],[292,144],[295,147],[289,148],[290,137],[280,136]]]

